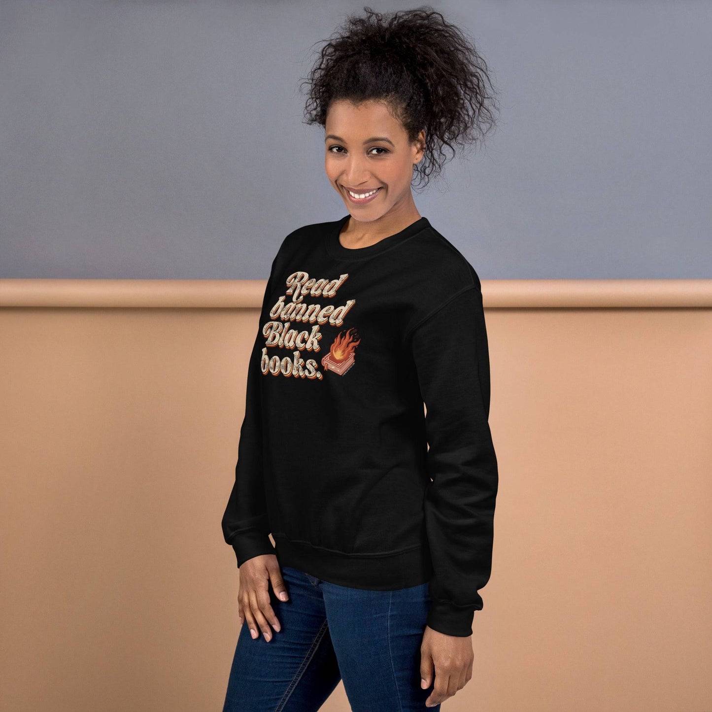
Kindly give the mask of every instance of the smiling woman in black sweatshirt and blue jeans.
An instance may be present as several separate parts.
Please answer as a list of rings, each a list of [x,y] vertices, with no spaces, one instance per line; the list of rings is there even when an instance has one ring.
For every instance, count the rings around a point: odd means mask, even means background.
[[[489,78],[425,6],[350,17],[308,83],[348,214],[290,233],[265,290],[224,711],[317,710],[341,679],[355,711],[439,708],[472,676],[498,472],[480,281],[411,188],[493,125]]]

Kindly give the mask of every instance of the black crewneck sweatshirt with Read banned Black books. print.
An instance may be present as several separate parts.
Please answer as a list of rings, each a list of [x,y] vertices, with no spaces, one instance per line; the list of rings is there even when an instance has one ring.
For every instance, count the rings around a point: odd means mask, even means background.
[[[224,538],[238,566],[429,581],[427,624],[468,636],[498,486],[480,281],[425,217],[353,249],[348,218],[293,231],[273,261]]]

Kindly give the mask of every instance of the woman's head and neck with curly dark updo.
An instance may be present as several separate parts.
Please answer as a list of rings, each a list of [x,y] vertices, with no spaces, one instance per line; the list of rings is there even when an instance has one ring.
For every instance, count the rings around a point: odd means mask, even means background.
[[[486,69],[464,34],[427,9],[389,23],[366,9],[323,48],[305,115],[324,126],[326,174],[353,211],[342,245],[374,244],[419,219],[414,177],[427,184],[444,146],[471,147],[495,125]]]

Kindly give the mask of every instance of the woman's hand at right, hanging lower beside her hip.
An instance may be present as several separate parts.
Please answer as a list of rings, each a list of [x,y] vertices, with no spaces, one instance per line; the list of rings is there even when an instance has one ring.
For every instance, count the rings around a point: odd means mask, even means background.
[[[428,688],[433,681],[434,689],[426,699],[426,707],[434,707],[452,697],[470,681],[472,663],[472,636],[446,635],[426,626],[420,645],[420,685]]]

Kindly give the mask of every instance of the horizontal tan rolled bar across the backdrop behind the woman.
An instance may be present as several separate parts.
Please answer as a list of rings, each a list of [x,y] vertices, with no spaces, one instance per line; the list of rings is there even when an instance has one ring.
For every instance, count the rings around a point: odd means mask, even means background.
[[[0,308],[259,308],[262,279],[0,279]],[[712,279],[482,280],[485,308],[711,308]]]

